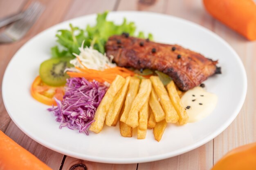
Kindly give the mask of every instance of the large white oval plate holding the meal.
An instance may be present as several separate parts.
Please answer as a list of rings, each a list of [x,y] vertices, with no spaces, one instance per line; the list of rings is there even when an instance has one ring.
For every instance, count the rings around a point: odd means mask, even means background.
[[[96,15],[75,18],[51,27],[29,40],[13,56],[3,78],[4,105],[16,125],[38,143],[71,157],[103,163],[140,163],[173,157],[193,150],[220,134],[235,119],[247,91],[247,78],[236,52],[219,36],[192,22],[148,12],[111,12],[108,20],[121,23],[126,17],[134,21],[137,30],[150,32],[157,42],[179,44],[219,60],[222,74],[205,81],[207,90],[218,95],[214,112],[197,123],[184,126],[169,124],[162,140],[154,140],[152,130],[146,139],[121,137],[119,126],[104,127],[100,134],[79,134],[68,128],[59,129],[48,106],[30,96],[29,88],[38,75],[40,63],[50,58],[50,48],[56,45],[58,29],[71,22],[85,28],[94,25]]]

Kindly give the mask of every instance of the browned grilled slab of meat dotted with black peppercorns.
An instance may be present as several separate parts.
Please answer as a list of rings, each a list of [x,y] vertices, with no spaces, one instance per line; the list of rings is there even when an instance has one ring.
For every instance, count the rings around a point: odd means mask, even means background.
[[[209,76],[221,73],[220,67],[202,54],[180,45],[167,45],[131,36],[111,36],[106,43],[107,56],[120,67],[153,69],[168,74],[186,91],[200,85]]]

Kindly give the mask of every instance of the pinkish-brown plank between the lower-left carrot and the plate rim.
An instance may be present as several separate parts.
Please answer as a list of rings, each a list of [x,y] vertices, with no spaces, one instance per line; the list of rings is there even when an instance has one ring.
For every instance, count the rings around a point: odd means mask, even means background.
[[[16,141],[23,148],[34,154],[38,159],[46,163],[54,170],[58,170],[63,159],[63,154],[54,152],[43,145],[40,145],[36,141],[30,139],[25,135],[14,123],[11,121],[5,134],[9,136],[13,141]],[[17,160],[18,161],[18,160]]]

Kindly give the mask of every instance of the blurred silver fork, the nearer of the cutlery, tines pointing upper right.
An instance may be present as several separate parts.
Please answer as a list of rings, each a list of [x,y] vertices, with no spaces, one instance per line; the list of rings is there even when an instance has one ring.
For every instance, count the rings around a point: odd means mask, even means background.
[[[20,40],[27,31],[34,25],[40,14],[44,10],[44,6],[39,2],[33,2],[29,8],[23,13],[23,17],[13,22],[7,29],[0,34],[0,43],[14,42]]]

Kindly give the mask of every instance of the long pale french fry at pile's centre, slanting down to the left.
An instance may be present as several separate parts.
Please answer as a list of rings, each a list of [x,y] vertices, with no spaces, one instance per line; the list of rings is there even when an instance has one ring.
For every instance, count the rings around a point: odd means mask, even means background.
[[[151,89],[152,85],[150,80],[142,79],[139,92],[132,102],[132,107],[128,114],[128,119],[126,120],[126,124],[130,125],[132,128],[136,128],[139,125],[139,110],[141,110],[141,107],[148,100]]]

